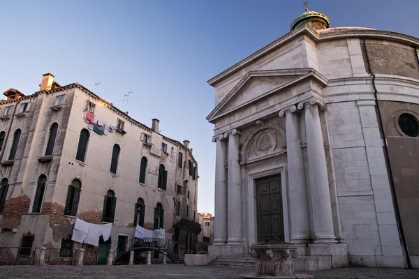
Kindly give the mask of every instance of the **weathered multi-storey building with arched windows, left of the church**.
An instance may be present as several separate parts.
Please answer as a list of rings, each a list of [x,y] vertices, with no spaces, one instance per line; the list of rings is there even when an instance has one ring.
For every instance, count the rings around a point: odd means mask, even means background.
[[[127,248],[138,224],[196,250],[199,176],[189,141],[159,133],[157,119],[152,128],[135,121],[81,84],[53,79],[43,75],[28,96],[3,93],[0,246],[80,248],[71,241],[78,217],[113,224],[110,241],[99,243],[107,249]]]

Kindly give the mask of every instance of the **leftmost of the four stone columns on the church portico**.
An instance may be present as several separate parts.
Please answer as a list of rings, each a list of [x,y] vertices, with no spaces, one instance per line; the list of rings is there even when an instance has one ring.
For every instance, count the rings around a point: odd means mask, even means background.
[[[216,142],[214,213],[218,216],[214,222],[212,245],[221,245],[227,241],[227,141],[223,140],[223,135],[218,135],[212,139],[212,142]]]

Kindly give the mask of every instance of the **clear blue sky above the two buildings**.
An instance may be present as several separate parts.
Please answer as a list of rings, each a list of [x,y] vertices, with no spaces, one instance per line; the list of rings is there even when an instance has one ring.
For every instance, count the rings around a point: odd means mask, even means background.
[[[331,27],[372,27],[419,37],[418,0],[311,0]],[[302,1],[0,0],[0,91],[38,90],[43,73],[80,82],[163,134],[190,140],[198,211],[214,212],[215,145],[206,81],[289,31]]]

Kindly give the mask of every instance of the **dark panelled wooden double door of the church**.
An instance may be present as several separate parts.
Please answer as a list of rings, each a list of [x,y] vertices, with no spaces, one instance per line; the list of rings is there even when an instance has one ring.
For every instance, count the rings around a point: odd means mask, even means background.
[[[258,242],[284,240],[281,174],[256,180]]]

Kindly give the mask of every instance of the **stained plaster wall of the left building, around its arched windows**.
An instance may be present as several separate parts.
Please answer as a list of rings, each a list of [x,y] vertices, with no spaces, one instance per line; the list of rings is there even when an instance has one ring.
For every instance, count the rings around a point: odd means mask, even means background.
[[[52,110],[56,97],[61,94],[64,94],[61,109]],[[84,113],[88,101],[96,105],[94,115],[105,124],[117,126],[117,119],[124,121],[126,133],[98,135],[89,130],[87,153],[84,162],[81,162],[75,160],[75,156],[80,131],[87,129]],[[167,239],[172,239],[172,225],[181,218],[198,220],[198,163],[193,158],[192,149],[189,149],[189,141],[181,143],[161,135],[158,125],[153,130],[131,119],[80,84],[2,101],[0,114],[3,115],[5,107],[10,105],[16,106],[18,111],[20,105],[26,102],[31,102],[31,107],[24,116],[11,114],[0,121],[0,130],[6,132],[0,170],[3,178],[8,179],[8,192],[0,214],[0,246],[19,247],[22,235],[30,232],[34,234],[32,247],[60,248],[61,239],[71,237],[76,217],[89,223],[103,223],[103,202],[108,190],[112,190],[117,197],[110,246],[113,250],[117,249],[119,235],[128,239],[133,237],[135,204],[140,198],[145,204],[144,227],[147,229],[153,229],[156,204],[163,206],[163,227]],[[50,161],[41,163],[39,160],[45,157],[52,123],[57,123],[59,127],[53,153]],[[13,133],[17,128],[22,130],[17,153],[14,160],[8,160]],[[150,136],[149,144],[140,141],[142,133]],[[167,144],[167,153],[161,150],[162,143]],[[114,144],[119,144],[121,148],[116,174],[110,173]],[[180,165],[179,153],[182,153]],[[142,157],[147,158],[145,183],[138,182]],[[195,179],[189,175],[189,160],[196,167]],[[166,190],[157,186],[161,164],[168,172]],[[32,213],[41,174],[47,176],[41,212]],[[78,211],[76,216],[65,216],[68,186],[73,179],[82,184]],[[178,185],[182,186],[180,193],[177,193]],[[182,200],[178,215],[174,211],[177,200]],[[186,213],[188,206],[189,212]],[[81,247],[80,243],[74,243],[73,248]]]

